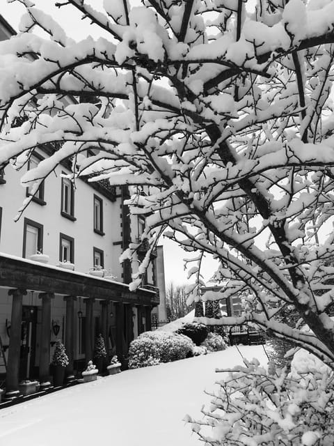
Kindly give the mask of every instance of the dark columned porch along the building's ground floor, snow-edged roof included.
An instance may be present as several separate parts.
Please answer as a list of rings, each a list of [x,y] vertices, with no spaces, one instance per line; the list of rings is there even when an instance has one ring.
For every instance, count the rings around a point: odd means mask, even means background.
[[[150,330],[152,289],[0,254],[0,336],[6,349],[6,397],[19,395],[19,381],[48,383],[56,339],[65,344],[73,378],[93,359],[98,332],[107,351],[125,362],[129,343]]]

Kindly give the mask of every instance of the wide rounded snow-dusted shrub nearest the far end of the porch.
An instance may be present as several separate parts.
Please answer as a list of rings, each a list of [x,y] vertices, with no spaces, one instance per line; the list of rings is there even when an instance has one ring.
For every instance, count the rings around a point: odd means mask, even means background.
[[[193,343],[182,334],[144,332],[129,347],[129,368],[147,367],[160,362],[182,360],[192,355]]]

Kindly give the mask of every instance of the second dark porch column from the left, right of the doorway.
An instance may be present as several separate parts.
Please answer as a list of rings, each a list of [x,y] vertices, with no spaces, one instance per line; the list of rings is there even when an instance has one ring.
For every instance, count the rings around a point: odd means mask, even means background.
[[[42,299],[42,323],[40,327],[40,385],[50,386],[51,299],[54,293],[40,293]],[[43,385],[44,384],[44,385]]]

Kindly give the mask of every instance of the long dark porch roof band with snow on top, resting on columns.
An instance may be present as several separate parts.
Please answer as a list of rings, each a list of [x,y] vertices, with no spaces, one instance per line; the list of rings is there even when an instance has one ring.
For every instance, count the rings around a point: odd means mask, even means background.
[[[122,282],[3,253],[0,253],[0,286],[137,305],[159,305],[159,295],[155,291],[145,288],[129,291],[129,286]]]

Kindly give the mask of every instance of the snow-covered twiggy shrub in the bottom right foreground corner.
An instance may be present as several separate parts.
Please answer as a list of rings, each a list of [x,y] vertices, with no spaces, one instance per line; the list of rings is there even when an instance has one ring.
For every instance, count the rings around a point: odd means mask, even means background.
[[[205,417],[184,420],[207,446],[333,446],[334,372],[317,361],[303,353],[289,374],[257,360],[219,370],[228,376]]]

